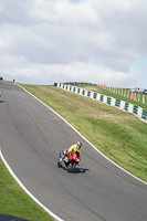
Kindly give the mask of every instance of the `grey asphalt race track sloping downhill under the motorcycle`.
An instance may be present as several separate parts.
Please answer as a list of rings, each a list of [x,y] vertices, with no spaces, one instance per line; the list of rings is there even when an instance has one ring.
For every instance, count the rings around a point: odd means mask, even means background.
[[[65,221],[147,221],[147,186],[95,151],[67,124],[14,84],[0,82],[0,148],[15,176]],[[73,173],[59,151],[81,140]]]

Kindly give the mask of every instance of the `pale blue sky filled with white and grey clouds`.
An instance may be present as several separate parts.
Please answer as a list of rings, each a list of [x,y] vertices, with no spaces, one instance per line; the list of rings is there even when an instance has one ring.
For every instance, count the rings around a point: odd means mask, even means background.
[[[0,76],[147,88],[147,0],[0,0]]]

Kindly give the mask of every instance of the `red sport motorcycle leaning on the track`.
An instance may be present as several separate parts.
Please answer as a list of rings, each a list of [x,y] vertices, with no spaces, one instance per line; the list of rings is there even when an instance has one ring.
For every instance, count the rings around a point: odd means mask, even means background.
[[[65,161],[65,157],[67,157],[67,161]],[[62,167],[63,169],[67,170],[67,172],[72,172],[76,165],[78,165],[81,160],[80,152],[69,152],[66,156],[64,152],[59,152],[59,160],[57,167]]]

